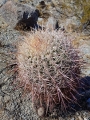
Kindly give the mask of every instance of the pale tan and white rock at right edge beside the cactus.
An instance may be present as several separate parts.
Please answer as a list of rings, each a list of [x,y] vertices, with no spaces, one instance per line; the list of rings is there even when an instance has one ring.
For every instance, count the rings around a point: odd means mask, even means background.
[[[79,49],[80,56],[84,60],[82,76],[90,76],[90,35],[72,33],[75,36],[74,47]]]

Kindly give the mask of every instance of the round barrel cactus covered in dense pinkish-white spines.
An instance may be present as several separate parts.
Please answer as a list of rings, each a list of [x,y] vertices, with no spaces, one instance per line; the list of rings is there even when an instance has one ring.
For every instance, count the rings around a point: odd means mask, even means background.
[[[62,31],[32,32],[18,44],[18,79],[39,116],[76,100],[81,60],[72,37]]]

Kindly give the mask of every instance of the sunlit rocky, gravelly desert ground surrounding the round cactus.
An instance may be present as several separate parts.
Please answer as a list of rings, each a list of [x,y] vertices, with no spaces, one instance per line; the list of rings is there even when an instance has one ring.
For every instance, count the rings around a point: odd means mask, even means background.
[[[78,6],[74,0],[0,0],[0,120],[90,120],[90,13],[89,20],[82,16],[82,2]],[[17,23],[24,12],[30,17],[36,9],[40,12],[36,26],[61,29],[66,35],[75,36],[73,45],[85,61],[81,70],[84,89],[78,90],[83,97],[77,96],[80,106],[73,105],[75,110],[70,109],[67,113],[60,113],[57,108],[46,118],[38,117],[30,97],[16,86],[17,73],[14,71],[16,45],[30,32],[18,28]]]

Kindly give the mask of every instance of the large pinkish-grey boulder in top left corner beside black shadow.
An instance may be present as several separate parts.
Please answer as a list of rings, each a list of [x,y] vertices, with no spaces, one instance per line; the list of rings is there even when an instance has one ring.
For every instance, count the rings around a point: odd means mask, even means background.
[[[10,0],[1,7],[0,14],[3,16],[6,23],[15,27],[16,23],[22,19],[24,11],[28,11],[30,15],[34,10],[35,8],[27,4],[15,3]]]

